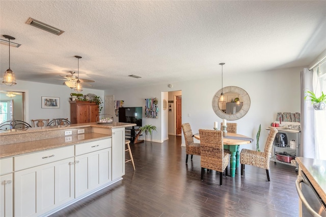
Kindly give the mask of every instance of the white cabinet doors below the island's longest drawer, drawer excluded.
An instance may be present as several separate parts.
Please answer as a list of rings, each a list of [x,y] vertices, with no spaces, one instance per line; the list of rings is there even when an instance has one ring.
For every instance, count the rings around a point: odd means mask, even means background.
[[[15,216],[40,215],[74,199],[74,158],[14,173]]]

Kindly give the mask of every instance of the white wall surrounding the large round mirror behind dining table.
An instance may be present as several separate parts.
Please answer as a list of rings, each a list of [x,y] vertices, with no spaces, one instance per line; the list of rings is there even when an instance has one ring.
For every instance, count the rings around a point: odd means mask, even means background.
[[[256,138],[259,124],[262,126],[260,134],[260,149],[266,141],[265,128],[276,119],[278,112],[300,112],[300,71],[302,68],[289,68],[283,70],[239,73],[236,76],[224,73],[224,86],[237,86],[246,90],[251,99],[249,112],[239,120],[238,133]],[[212,129],[213,122],[222,121],[212,110],[213,95],[221,89],[220,74],[214,77],[203,78],[173,84],[172,90],[168,84],[144,86],[133,89],[106,90],[105,95],[114,94],[115,99],[124,100],[124,106],[145,106],[145,98],[159,98],[161,92],[182,91],[182,123],[190,123],[194,133],[200,128]],[[132,93],[132,94],[130,94]],[[153,134],[153,141],[162,141],[161,137],[161,107],[158,119],[144,119],[143,125],[157,126]],[[188,117],[187,114],[191,114]],[[182,135],[182,143],[184,138]],[[246,148],[255,149],[255,142]],[[242,146],[241,146],[242,147]]]

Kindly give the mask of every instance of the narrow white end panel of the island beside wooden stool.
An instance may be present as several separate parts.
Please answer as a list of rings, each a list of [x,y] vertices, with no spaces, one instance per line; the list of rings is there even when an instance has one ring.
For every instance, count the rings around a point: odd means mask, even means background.
[[[112,180],[124,175],[125,128],[112,128]]]

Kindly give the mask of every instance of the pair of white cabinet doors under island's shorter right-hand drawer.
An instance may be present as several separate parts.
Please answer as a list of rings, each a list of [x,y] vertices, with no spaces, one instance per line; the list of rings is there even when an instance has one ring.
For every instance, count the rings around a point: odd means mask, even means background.
[[[111,180],[111,148],[75,157],[75,198]]]

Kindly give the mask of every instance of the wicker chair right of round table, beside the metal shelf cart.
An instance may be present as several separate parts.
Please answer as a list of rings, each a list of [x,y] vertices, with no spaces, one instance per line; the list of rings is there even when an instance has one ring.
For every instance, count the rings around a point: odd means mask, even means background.
[[[276,128],[270,128],[264,152],[242,149],[240,153],[241,176],[243,176],[244,165],[252,165],[266,170],[267,181],[269,179],[269,154],[277,133]]]

